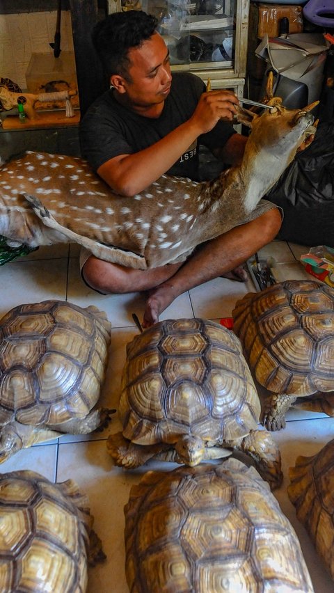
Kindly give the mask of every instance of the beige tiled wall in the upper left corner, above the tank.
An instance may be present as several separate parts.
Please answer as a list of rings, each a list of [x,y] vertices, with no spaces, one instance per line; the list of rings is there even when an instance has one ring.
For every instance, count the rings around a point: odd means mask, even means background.
[[[50,52],[54,41],[56,11],[0,15],[0,77],[15,81],[26,90],[26,68],[32,52]],[[61,13],[61,49],[73,51],[69,10]]]

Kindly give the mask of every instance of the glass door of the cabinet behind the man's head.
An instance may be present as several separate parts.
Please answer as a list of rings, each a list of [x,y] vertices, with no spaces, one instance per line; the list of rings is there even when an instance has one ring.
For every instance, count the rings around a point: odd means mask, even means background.
[[[170,63],[187,70],[233,68],[237,0],[122,0],[157,17]],[[197,66],[196,66],[197,65]]]

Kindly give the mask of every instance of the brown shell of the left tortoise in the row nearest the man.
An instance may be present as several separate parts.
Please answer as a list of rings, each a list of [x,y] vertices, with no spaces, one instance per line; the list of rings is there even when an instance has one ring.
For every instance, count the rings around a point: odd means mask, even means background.
[[[85,418],[100,397],[106,315],[65,301],[20,305],[0,321],[0,425]]]

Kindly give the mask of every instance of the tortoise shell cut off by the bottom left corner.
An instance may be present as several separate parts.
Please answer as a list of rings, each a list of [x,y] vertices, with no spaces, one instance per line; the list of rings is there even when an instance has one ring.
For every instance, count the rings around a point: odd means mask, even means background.
[[[86,591],[91,525],[88,498],[72,480],[0,474],[1,592]],[[100,549],[95,560],[103,558]]]

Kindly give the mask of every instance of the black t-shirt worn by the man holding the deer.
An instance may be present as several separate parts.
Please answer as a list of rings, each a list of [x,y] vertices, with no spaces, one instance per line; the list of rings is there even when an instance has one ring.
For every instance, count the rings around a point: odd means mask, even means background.
[[[146,118],[122,106],[113,97],[113,89],[99,97],[80,124],[81,155],[96,171],[102,164],[118,155],[130,155],[158,142],[173,129],[191,118],[200,95],[205,91],[202,79],[189,72],[173,73],[170,94],[161,116]],[[198,179],[198,146],[209,150],[223,146],[234,134],[232,125],[220,121],[214,129],[203,134],[167,171]]]

